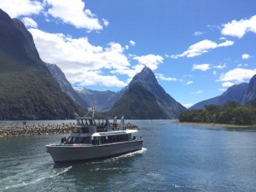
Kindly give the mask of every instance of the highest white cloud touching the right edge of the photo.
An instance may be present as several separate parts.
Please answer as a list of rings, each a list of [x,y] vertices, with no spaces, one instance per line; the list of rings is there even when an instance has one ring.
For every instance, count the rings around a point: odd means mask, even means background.
[[[256,33],[256,15],[248,20],[232,20],[222,26],[221,33],[223,35],[242,38],[247,32]]]

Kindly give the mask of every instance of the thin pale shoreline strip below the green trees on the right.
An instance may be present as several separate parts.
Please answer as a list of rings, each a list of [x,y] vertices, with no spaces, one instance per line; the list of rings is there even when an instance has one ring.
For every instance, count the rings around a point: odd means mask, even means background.
[[[214,124],[214,123],[196,123],[196,122],[171,122],[173,125],[200,125],[200,126],[212,126],[212,127],[229,127],[229,128],[241,128],[241,129],[256,129],[255,125],[232,125],[232,124]]]

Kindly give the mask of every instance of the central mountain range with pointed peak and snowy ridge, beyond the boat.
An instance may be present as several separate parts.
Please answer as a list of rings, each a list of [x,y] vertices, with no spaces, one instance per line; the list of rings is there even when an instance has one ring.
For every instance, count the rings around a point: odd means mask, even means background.
[[[74,91],[79,100],[82,98],[103,115],[122,115],[126,119],[175,119],[186,110],[158,84],[154,73],[148,67],[137,73],[127,87],[113,92],[72,88],[59,67],[50,64],[46,66],[61,85],[61,89],[75,102],[81,103],[74,96]]]

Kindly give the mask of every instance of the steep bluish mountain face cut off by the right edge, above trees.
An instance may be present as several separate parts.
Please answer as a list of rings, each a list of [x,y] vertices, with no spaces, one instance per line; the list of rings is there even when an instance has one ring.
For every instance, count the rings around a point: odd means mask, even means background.
[[[246,104],[247,102],[252,102],[256,100],[256,74],[250,79],[247,90],[241,97],[241,103]]]

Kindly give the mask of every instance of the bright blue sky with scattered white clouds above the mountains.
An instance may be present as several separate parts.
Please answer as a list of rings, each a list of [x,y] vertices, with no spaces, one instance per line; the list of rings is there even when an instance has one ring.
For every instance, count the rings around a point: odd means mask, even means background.
[[[255,0],[0,0],[74,87],[123,89],[144,66],[186,108],[256,73]]]

